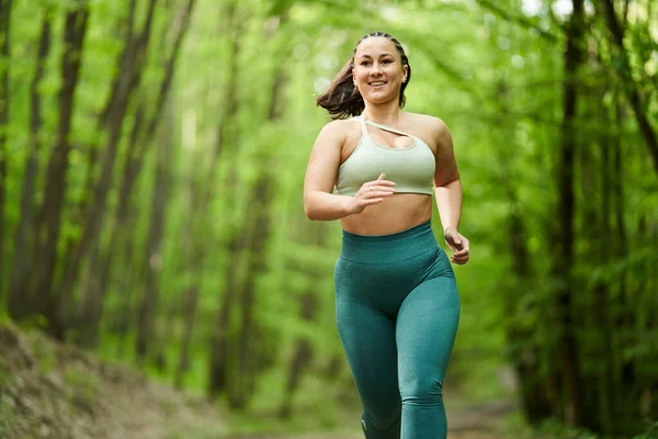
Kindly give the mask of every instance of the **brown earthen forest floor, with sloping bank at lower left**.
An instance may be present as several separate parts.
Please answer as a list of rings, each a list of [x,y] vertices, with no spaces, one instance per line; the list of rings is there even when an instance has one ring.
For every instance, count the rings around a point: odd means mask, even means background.
[[[507,403],[449,413],[450,439],[503,439]],[[36,333],[0,324],[0,438],[7,439],[358,439],[349,432],[229,434],[230,416],[200,396],[101,361]],[[498,432],[497,432],[498,431]]]

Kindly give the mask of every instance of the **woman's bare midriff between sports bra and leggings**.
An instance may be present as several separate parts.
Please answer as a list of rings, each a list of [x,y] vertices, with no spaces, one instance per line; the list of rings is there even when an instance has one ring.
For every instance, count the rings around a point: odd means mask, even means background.
[[[355,235],[390,235],[404,232],[432,217],[432,196],[396,193],[341,219],[342,228]]]

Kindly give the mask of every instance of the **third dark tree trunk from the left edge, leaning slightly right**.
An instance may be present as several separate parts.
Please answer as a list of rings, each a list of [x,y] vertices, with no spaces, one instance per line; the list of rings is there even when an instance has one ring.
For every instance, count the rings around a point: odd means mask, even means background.
[[[86,2],[78,2],[78,7],[66,14],[64,30],[64,53],[61,56],[61,90],[59,92],[59,120],[55,147],[50,151],[46,171],[46,190],[42,207],[43,229],[38,230],[37,251],[33,254],[34,268],[34,303],[37,312],[48,319],[48,330],[55,337],[64,336],[64,322],[57,315],[53,294],[53,277],[59,240],[59,226],[61,221],[61,205],[66,190],[66,175],[68,171],[68,140],[71,116],[73,112],[73,97],[78,85],[78,76],[82,59],[82,47],[89,19],[89,7]]]

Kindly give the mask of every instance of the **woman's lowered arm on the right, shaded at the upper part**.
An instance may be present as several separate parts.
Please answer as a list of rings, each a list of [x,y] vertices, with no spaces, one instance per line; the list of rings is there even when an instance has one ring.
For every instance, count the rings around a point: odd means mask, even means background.
[[[455,159],[452,136],[443,121],[436,119],[434,192],[443,226],[445,244],[453,250],[451,260],[464,264],[469,258],[469,241],[457,232],[462,217],[462,181]]]

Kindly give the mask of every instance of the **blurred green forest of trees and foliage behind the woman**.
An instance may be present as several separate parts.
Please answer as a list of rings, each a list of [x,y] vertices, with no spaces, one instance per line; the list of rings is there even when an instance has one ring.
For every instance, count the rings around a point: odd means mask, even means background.
[[[449,412],[658,437],[653,0],[1,0],[0,319],[242,430],[359,428],[340,224],[302,191],[315,94],[372,31],[462,175]]]

